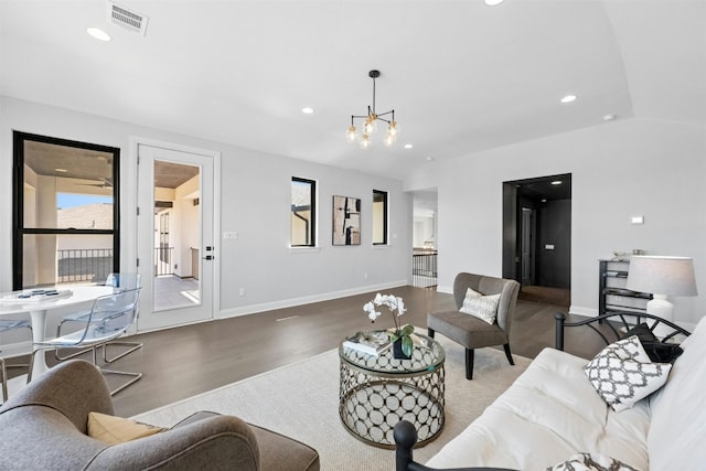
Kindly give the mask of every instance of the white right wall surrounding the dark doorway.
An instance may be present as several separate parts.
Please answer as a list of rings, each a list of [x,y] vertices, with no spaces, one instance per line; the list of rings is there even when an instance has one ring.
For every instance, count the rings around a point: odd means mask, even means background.
[[[502,182],[571,173],[571,312],[598,308],[598,259],[613,250],[694,257],[699,296],[675,318],[706,313],[706,130],[642,119],[436,161],[406,183],[438,186],[439,286],[462,270],[502,275]],[[644,225],[630,217],[644,216]]]

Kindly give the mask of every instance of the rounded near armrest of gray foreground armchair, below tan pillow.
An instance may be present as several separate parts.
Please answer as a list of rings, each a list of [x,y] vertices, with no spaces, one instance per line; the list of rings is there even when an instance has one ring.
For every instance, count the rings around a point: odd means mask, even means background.
[[[233,416],[206,417],[150,437],[108,447],[86,470],[259,470],[259,450],[248,425]]]

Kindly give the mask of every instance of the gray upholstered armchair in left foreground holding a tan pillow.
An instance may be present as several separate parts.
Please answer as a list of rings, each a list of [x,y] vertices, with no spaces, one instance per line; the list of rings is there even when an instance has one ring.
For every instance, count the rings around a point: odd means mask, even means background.
[[[71,360],[35,378],[0,407],[0,470],[319,470],[314,449],[234,416],[196,413],[169,430],[107,445],[86,435],[90,411],[114,414],[89,362]]]

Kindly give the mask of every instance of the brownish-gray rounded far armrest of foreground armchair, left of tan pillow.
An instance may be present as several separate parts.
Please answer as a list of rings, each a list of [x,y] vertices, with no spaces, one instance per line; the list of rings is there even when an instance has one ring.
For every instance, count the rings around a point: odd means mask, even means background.
[[[34,378],[3,405],[2,411],[28,405],[60,411],[82,433],[86,433],[88,413],[114,414],[105,378],[85,360],[60,363]]]

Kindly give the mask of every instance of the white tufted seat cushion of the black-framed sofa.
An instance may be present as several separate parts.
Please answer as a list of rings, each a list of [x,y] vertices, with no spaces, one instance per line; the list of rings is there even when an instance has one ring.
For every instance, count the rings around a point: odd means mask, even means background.
[[[585,451],[649,469],[646,403],[616,413],[586,378],[585,364],[586,358],[543,350],[505,393],[426,464],[543,470]]]

